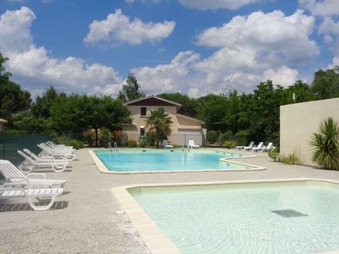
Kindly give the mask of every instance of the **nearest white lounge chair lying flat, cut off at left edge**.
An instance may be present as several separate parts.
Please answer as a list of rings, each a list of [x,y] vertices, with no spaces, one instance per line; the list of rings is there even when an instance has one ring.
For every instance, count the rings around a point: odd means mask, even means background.
[[[6,183],[4,184],[6,186]],[[33,210],[43,211],[52,207],[57,196],[61,195],[63,188],[0,188],[0,198],[27,198],[28,204]],[[46,198],[50,198],[47,205],[35,205],[39,199],[46,202]]]

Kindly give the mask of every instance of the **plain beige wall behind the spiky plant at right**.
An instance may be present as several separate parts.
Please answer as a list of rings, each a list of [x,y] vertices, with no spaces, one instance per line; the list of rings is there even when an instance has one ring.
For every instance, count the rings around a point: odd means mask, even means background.
[[[280,154],[297,150],[303,164],[316,165],[311,162],[309,141],[312,133],[318,132],[319,123],[330,116],[339,121],[339,98],[280,106]]]

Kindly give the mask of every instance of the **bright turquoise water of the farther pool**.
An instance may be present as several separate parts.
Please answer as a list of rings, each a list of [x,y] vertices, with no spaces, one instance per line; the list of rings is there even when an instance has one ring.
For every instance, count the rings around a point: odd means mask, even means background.
[[[220,162],[220,158],[245,155],[216,151],[187,150],[109,150],[95,151],[110,171],[190,171],[251,169],[242,164]]]

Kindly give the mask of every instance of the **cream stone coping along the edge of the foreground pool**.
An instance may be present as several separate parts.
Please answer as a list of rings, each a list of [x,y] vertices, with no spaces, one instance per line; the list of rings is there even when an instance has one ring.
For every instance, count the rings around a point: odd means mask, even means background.
[[[143,210],[143,207],[136,202],[133,196],[129,193],[130,188],[147,188],[147,187],[166,187],[166,186],[204,186],[204,185],[222,185],[227,183],[270,183],[270,182],[289,182],[289,181],[322,181],[339,184],[339,181],[332,179],[258,179],[258,180],[237,180],[237,181],[201,181],[201,182],[186,182],[186,183],[136,183],[126,186],[111,188],[111,192],[119,202],[123,213],[129,217],[131,224],[134,226],[138,235],[141,237],[145,246],[153,254],[165,253],[181,253],[177,246],[169,239],[169,237],[153,222],[148,214]],[[331,250],[314,254],[335,254],[338,250]]]

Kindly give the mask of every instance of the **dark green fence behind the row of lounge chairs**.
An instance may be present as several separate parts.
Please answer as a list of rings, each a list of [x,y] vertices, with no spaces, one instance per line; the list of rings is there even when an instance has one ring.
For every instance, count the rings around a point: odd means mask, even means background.
[[[41,150],[37,144],[50,140],[49,135],[0,135],[0,159],[8,159],[17,165],[23,162],[23,157],[18,155],[18,150],[28,148],[34,153]]]

